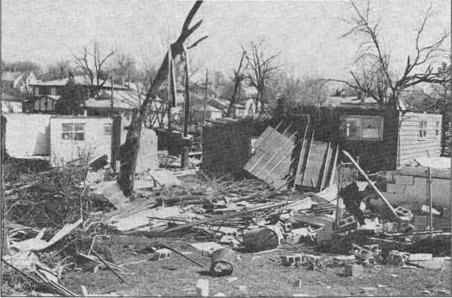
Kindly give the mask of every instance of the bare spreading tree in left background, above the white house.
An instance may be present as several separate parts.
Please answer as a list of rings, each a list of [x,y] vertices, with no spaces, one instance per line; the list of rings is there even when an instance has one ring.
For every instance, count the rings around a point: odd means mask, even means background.
[[[105,67],[108,58],[112,57],[114,53],[115,51],[110,51],[102,56],[98,42],[94,42],[93,51],[88,51],[87,46],[85,46],[83,48],[83,55],[77,56],[75,53],[72,53],[77,67],[80,68],[90,80],[91,95],[99,94],[99,89],[106,83],[108,76],[105,71],[103,71],[103,68]],[[91,60],[93,61],[91,62]]]

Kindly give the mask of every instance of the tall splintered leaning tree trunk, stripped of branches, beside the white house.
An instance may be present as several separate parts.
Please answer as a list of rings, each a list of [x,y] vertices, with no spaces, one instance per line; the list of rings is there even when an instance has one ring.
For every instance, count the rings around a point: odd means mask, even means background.
[[[202,1],[196,1],[194,6],[188,13],[187,17],[182,26],[181,34],[179,35],[176,42],[171,44],[171,59],[175,59],[178,55],[184,53],[187,49],[191,49],[197,46],[199,42],[205,40],[207,36],[201,37],[199,40],[194,42],[191,46],[185,48],[184,42],[187,38],[194,33],[194,31],[201,26],[202,20],[196,22],[190,27],[192,19],[196,12],[199,10]],[[158,89],[165,80],[167,80],[169,71],[169,52],[166,53],[160,68],[156,73],[156,77],[149,87],[146,97],[143,100],[142,105],[138,109],[137,113],[133,116],[131,125],[128,127],[126,142],[122,146],[121,153],[121,169],[119,173],[118,183],[124,192],[124,195],[131,195],[133,193],[133,174],[135,173],[135,166],[137,161],[138,150],[140,149],[140,133],[142,128],[142,123],[147,114],[147,106],[151,103],[151,100],[158,94]]]

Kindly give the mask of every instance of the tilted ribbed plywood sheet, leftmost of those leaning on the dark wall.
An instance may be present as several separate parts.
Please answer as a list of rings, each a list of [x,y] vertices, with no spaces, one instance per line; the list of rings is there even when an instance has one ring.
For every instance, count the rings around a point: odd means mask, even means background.
[[[288,130],[289,127],[284,132],[267,128],[256,141],[254,155],[244,166],[244,170],[276,189],[285,184],[290,173],[296,132],[290,134]]]

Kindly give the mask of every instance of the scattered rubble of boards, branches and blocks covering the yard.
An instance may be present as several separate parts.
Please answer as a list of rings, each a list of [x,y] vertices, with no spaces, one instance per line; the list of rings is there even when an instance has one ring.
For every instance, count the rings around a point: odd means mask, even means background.
[[[262,149],[265,139],[260,145]],[[190,243],[194,252],[178,252],[156,243],[134,250],[151,253],[152,258],[132,263],[163,261],[177,254],[212,277],[226,277],[228,283],[237,280],[231,274],[244,253],[255,253],[253,259],[258,254],[280,254],[281,265],[289,270],[303,267],[322,272],[343,267],[344,277],[360,277],[367,274],[365,267],[378,265],[444,267],[444,254],[450,254],[450,247],[442,255],[419,250],[426,247],[426,239],[435,239],[429,238],[432,231],[425,226],[414,225],[419,212],[430,213],[427,206],[416,211],[392,206],[348,152],[343,152],[344,156],[366,182],[337,184],[337,173],[332,172],[341,170],[335,166],[340,150],[328,143],[324,149],[322,160],[328,162],[327,170],[315,187],[304,192],[278,189],[275,186],[281,186],[281,180],[267,184],[267,177],[263,182],[208,176],[198,168],[143,171],[135,177],[135,193],[130,198],[119,189],[115,173],[106,168],[94,171],[78,166],[31,175],[37,182],[27,178],[26,183],[9,183],[3,188],[8,241],[2,261],[44,292],[65,296],[76,293],[60,284],[61,274],[75,268],[109,270],[127,283],[126,276],[133,272],[126,264],[117,265],[99,241],[109,234],[202,236],[201,242]],[[308,163],[310,157],[303,158]],[[249,172],[256,174],[251,168]],[[298,185],[303,186],[306,174],[298,173]],[[431,213],[441,216],[435,209]],[[450,228],[433,229],[433,236],[450,241]],[[434,241],[428,245],[437,247]],[[200,254],[206,262],[187,254]],[[238,287],[246,295],[246,286]],[[80,288],[82,295],[93,295],[85,286]],[[362,289],[365,293],[376,290]],[[196,283],[196,295],[209,295],[207,279]]]

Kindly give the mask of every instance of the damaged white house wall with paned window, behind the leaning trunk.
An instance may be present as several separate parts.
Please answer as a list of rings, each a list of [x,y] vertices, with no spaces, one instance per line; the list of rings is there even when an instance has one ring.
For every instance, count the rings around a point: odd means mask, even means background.
[[[81,161],[90,164],[101,157],[114,165],[119,159],[119,147],[126,138],[120,116],[14,113],[6,114],[2,119],[2,141],[9,157],[40,159],[52,167]],[[17,137],[19,134],[20,138]],[[142,143],[148,152],[142,166],[155,167],[158,165],[156,133],[145,129],[143,135]]]

